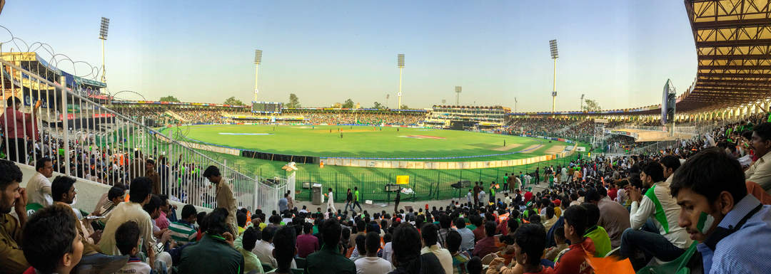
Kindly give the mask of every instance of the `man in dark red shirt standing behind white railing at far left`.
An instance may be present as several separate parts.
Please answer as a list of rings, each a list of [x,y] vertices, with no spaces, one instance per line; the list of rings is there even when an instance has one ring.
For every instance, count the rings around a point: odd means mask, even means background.
[[[41,101],[35,103],[32,113],[38,112],[41,103]],[[26,164],[27,139],[32,136],[28,135],[24,129],[29,129],[28,131],[32,132],[32,125],[36,125],[36,123],[34,123],[32,113],[19,111],[21,107],[22,100],[14,96],[8,97],[5,112],[0,115],[0,130],[5,132],[5,136],[8,138],[8,142],[5,144],[8,149],[8,160]]]

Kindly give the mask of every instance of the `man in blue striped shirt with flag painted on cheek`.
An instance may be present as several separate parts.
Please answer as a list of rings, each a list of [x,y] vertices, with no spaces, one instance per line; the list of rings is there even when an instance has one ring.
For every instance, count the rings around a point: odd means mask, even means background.
[[[771,269],[771,206],[747,195],[742,167],[719,149],[690,158],[670,185],[681,208],[679,226],[699,242],[705,273]]]

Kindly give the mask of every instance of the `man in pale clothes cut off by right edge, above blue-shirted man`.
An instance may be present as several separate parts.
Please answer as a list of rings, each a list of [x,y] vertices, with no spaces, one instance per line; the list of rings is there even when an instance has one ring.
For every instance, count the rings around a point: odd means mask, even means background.
[[[744,172],[747,182],[755,182],[771,194],[771,123],[764,122],[752,129],[752,150],[757,161]]]

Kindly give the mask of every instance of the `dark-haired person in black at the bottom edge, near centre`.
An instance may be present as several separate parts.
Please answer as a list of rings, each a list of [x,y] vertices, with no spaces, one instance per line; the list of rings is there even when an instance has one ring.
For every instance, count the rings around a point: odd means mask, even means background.
[[[396,269],[389,274],[449,274],[433,252],[420,254],[418,230],[402,223],[393,232],[393,262]],[[481,270],[481,268],[480,268]]]

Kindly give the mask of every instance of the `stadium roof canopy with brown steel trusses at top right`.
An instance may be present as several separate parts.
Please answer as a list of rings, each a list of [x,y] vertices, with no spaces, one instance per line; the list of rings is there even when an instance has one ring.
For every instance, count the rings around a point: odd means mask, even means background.
[[[771,95],[771,2],[685,0],[698,70],[677,109],[722,108]]]

